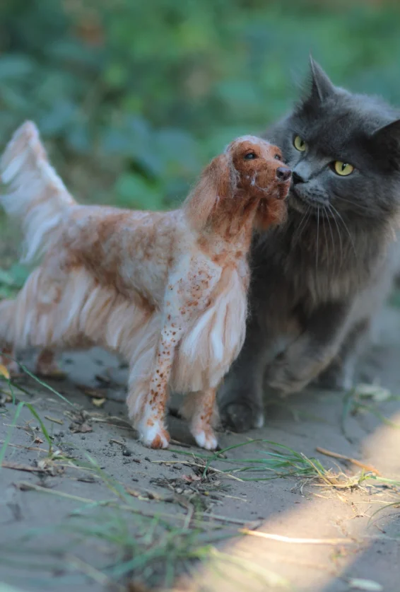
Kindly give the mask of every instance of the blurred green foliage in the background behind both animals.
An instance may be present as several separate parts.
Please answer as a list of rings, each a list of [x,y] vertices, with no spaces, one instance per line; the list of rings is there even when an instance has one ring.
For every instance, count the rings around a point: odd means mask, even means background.
[[[2,0],[0,143],[35,120],[80,199],[158,209],[289,107],[310,52],[400,105],[399,9],[266,0]]]

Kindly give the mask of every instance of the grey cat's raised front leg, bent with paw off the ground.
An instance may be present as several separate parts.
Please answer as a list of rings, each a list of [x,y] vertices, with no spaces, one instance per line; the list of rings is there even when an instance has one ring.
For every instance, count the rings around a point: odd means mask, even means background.
[[[303,320],[305,330],[266,370],[269,387],[283,395],[297,393],[327,368],[346,332],[348,307],[325,303]]]

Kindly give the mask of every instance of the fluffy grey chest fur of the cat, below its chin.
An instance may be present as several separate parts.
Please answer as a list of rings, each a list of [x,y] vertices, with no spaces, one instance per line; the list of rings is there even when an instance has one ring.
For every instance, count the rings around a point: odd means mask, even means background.
[[[327,302],[350,309],[360,294],[378,290],[388,272],[392,247],[384,229],[350,240],[334,231],[324,237],[312,224],[298,236],[298,224],[289,214],[285,228],[254,245],[252,303],[271,332],[293,332],[296,320]]]

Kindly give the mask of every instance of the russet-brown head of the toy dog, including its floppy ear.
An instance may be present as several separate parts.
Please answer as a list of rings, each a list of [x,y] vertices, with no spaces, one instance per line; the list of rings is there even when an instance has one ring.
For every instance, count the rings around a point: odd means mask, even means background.
[[[259,228],[278,224],[286,216],[283,200],[290,180],[290,168],[276,146],[254,136],[237,138],[202,173],[187,201],[189,219],[200,229],[212,219],[252,210]]]

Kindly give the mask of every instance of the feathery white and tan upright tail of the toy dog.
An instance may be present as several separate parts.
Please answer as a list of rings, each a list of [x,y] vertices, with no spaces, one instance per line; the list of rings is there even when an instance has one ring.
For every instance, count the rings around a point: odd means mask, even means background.
[[[8,142],[0,175],[8,185],[0,204],[22,224],[23,261],[31,262],[49,248],[65,209],[76,202],[50,165],[33,122],[21,125]]]

